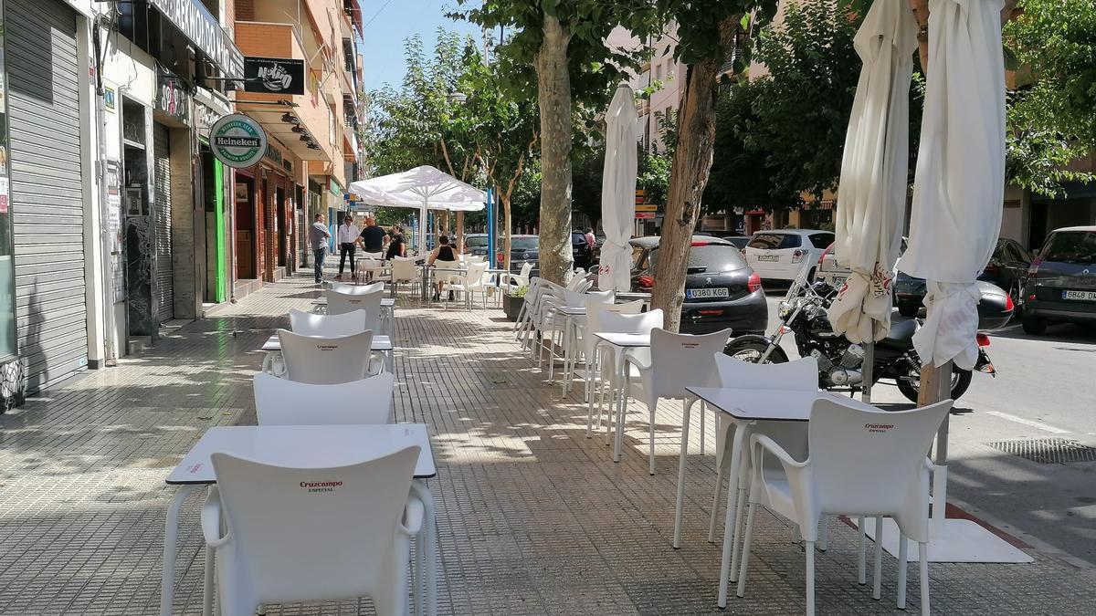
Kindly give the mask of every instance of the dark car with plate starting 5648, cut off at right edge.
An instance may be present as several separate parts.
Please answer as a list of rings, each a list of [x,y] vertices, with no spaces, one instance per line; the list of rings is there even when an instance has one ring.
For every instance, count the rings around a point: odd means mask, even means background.
[[[1096,323],[1096,227],[1050,233],[1028,270],[1024,331],[1054,322]]]

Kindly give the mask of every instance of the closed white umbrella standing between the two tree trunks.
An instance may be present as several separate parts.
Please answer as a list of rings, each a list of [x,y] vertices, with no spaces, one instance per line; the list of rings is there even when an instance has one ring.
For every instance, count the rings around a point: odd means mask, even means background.
[[[617,87],[605,113],[605,171],[602,174],[602,228],[605,243],[597,270],[602,290],[631,287],[632,218],[636,214],[636,99],[627,83]]]

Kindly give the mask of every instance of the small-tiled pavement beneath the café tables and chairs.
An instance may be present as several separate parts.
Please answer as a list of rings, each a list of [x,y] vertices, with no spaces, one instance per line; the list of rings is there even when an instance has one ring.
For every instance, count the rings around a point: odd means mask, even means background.
[[[153,614],[163,484],[210,425],[254,421],[256,352],[315,288],[283,281],[163,338],[117,368],[70,379],[0,417],[0,614]],[[403,307],[398,312],[397,417],[434,432],[444,614],[718,613],[719,547],[709,545],[713,482],[695,448],[685,540],[670,548],[680,410],[659,426],[659,475],[647,474],[646,427],[629,425],[614,464],[584,436],[585,407],[524,356],[501,311]],[[637,419],[642,417],[638,413]],[[695,433],[694,433],[695,434]],[[175,613],[201,613],[196,505],[183,512]],[[1035,533],[1038,535],[1038,533]],[[856,584],[855,532],[834,522],[820,555],[821,614],[894,612],[894,560],[883,601]],[[1096,614],[1096,574],[1035,552],[1027,566],[933,564],[937,614]],[[301,563],[307,567],[307,563]],[[916,567],[910,607],[917,607]],[[746,598],[730,614],[803,608],[803,557],[787,524],[758,516]],[[270,608],[368,614],[368,602]]]

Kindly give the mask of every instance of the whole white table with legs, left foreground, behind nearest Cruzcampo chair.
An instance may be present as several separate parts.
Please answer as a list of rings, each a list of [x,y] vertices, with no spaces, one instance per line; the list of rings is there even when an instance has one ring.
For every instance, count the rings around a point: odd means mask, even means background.
[[[424,520],[421,539],[425,547],[423,573],[426,584],[426,614],[436,614],[437,536],[434,526],[434,500],[425,479],[435,477],[434,453],[424,424],[398,423],[385,425],[231,425],[210,427],[168,476],[169,486],[178,486],[168,507],[163,534],[163,574],[160,585],[160,614],[171,615],[175,581],[175,543],[179,536],[179,511],[183,501],[217,482],[210,456],[230,454],[287,467],[336,467],[362,461],[365,457],[381,457],[418,445],[419,460],[414,480],[415,495],[423,502]],[[206,548],[203,615],[213,614],[213,552]]]

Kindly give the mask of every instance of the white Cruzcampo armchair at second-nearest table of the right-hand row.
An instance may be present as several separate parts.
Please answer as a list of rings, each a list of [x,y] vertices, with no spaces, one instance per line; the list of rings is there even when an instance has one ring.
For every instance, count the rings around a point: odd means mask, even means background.
[[[664,329],[651,330],[650,360],[627,357],[626,361],[637,368],[638,378],[629,378],[627,395],[639,398],[647,404],[650,427],[650,472],[654,475],[654,417],[659,410],[659,400],[674,398],[683,404],[692,407],[697,398],[685,390],[686,387],[703,387],[710,385],[715,376],[715,367],[710,358],[727,346],[731,330],[720,330],[712,333],[690,335],[674,333]],[[625,408],[628,407],[627,396]],[[700,413],[700,442],[704,442],[704,413]],[[624,430],[624,421],[617,425]],[[682,430],[688,434],[688,425]],[[685,452],[682,452],[682,456]],[[678,483],[684,480],[680,477]]]

